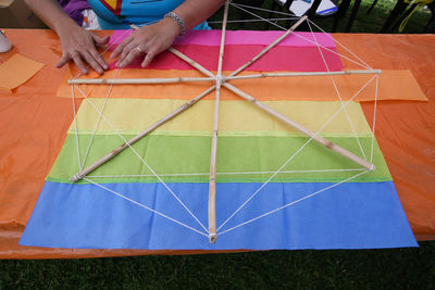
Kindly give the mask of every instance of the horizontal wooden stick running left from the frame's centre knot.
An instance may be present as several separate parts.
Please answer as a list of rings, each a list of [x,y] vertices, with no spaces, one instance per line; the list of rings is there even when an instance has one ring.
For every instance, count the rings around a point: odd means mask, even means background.
[[[80,78],[70,79],[70,85],[152,85],[191,81],[214,81],[214,77],[172,77],[172,78]]]

